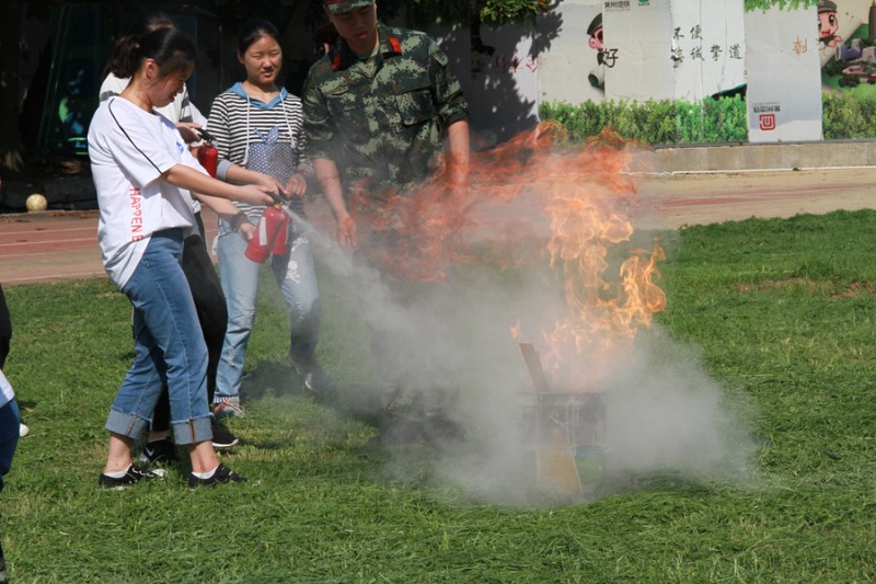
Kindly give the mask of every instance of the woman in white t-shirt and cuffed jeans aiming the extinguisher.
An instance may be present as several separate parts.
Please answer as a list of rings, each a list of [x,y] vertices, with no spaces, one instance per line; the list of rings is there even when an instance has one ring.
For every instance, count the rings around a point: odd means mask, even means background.
[[[154,31],[132,47],[127,64],[130,83],[101,104],[89,129],[97,239],[107,274],[134,305],[137,353],[110,410],[99,484],[123,488],[158,476],[131,463],[131,446],[148,431],[163,380],[175,443],[192,461],[188,484],[242,481],[219,462],[210,442],[207,350],[180,255],[194,225],[191,193],[199,193],[244,240],[255,227],[229,199],[263,205],[272,196],[266,187],[210,178],[175,125],[154,112],[173,101],[194,70],[189,37],[175,28]]]

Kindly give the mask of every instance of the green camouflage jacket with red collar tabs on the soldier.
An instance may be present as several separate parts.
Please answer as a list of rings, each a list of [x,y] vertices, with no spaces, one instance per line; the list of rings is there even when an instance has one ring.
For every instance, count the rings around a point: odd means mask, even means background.
[[[378,25],[380,46],[360,60],[343,38],[304,83],[308,156],[334,160],[345,188],[404,191],[429,175],[447,126],[469,116],[447,55],[423,33]]]

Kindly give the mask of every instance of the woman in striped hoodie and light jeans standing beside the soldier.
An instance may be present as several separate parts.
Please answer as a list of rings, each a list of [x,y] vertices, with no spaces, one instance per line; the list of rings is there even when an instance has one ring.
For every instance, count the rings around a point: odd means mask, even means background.
[[[269,174],[286,185],[290,210],[303,217],[303,196],[313,174],[304,157],[301,100],[277,85],[283,50],[277,28],[268,21],[247,23],[238,38],[238,59],[246,79],[234,83],[212,102],[207,128],[219,150],[217,175],[238,182],[241,169]],[[252,222],[264,206],[235,203]],[[328,379],[316,362],[320,296],[313,254],[307,237],[290,221],[284,254],[269,260],[289,310],[289,362],[311,391],[326,389]],[[240,385],[246,345],[255,321],[260,264],[245,255],[246,244],[224,221],[217,243],[219,273],[228,305],[228,330],[217,371],[214,411],[241,416]]]

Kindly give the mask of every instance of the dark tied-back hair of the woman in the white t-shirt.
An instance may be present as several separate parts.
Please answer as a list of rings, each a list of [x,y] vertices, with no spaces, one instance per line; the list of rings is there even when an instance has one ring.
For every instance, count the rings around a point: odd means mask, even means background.
[[[134,77],[146,59],[158,64],[161,77],[184,71],[195,66],[196,48],[192,38],[176,28],[159,28],[139,38],[131,39],[130,47],[124,51],[119,61],[120,78]]]

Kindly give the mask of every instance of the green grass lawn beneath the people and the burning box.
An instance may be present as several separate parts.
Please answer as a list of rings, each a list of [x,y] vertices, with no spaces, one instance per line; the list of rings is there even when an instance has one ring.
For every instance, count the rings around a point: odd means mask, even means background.
[[[314,403],[290,377],[288,324],[265,280],[247,354],[250,415],[230,423],[245,444],[222,455],[250,482],[192,491],[173,471],[101,491],[103,424],[131,357],[128,301],[104,279],[8,288],[15,330],[5,373],[32,427],[0,495],[11,579],[876,580],[876,213],[656,234],[668,306],[646,337],[658,369],[661,359],[684,366],[655,376],[693,392],[707,386],[707,411],[739,423],[711,462],[733,460],[734,448],[745,462],[726,462],[736,466],[725,473],[688,472],[672,459],[633,467],[588,501],[495,497],[496,483],[531,469],[466,481],[476,451],[461,459],[424,445],[372,445],[367,408],[351,403],[380,381],[344,282],[324,266],[320,356],[336,401]],[[511,354],[506,368],[517,369]],[[688,414],[682,424],[698,415]],[[722,435],[718,419],[705,421]],[[468,431],[482,444],[493,434],[476,423]],[[460,462],[456,473],[448,461]]]

